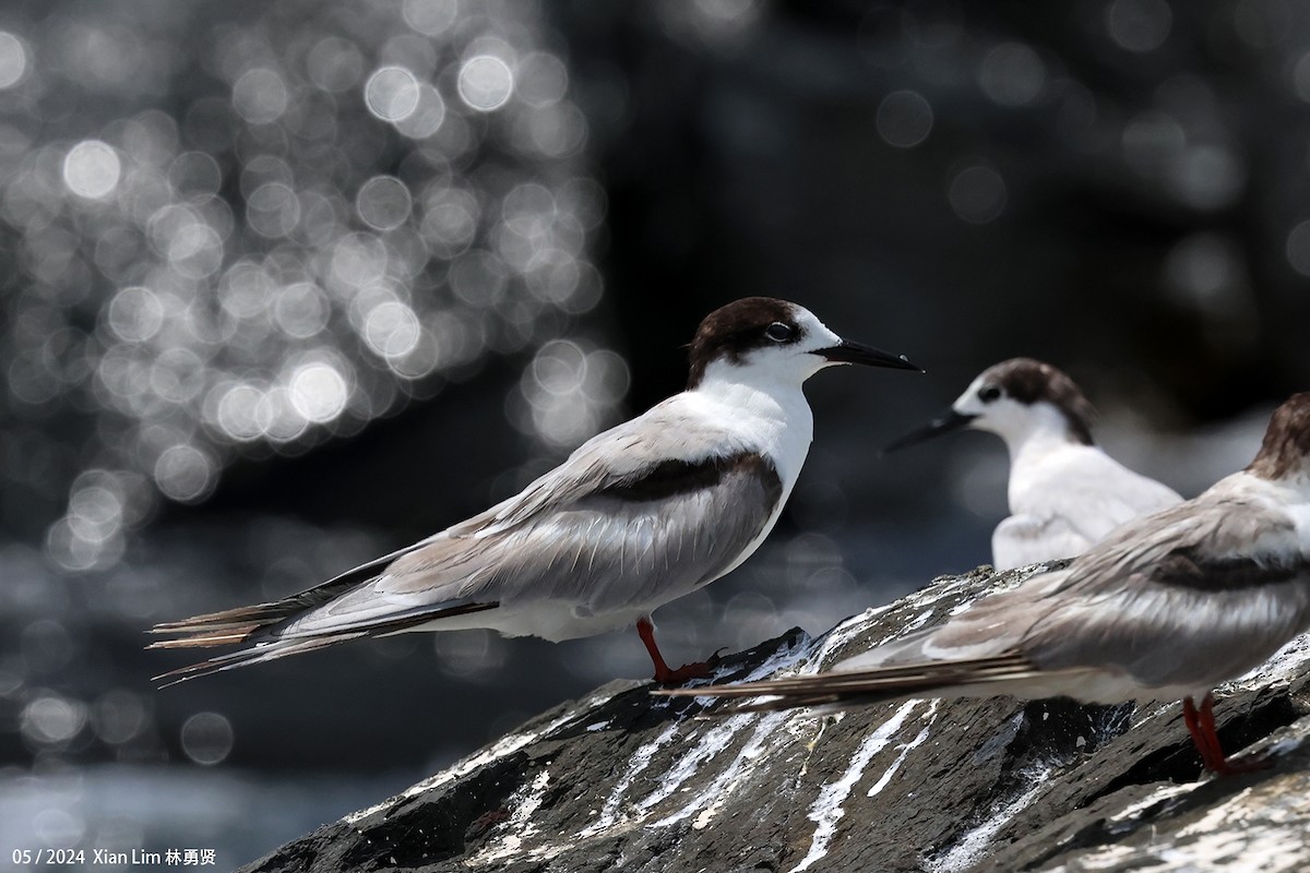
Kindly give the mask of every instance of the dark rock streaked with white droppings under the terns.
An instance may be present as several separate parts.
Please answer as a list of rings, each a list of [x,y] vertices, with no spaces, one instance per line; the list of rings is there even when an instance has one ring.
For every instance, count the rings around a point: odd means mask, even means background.
[[[793,630],[732,656],[714,682],[817,670],[1030,572],[942,577],[817,639]],[[1301,637],[1218,690],[1225,749],[1273,763],[1214,779],[1178,703],[702,719],[705,699],[616,682],[246,869],[1303,870],[1307,683]]]

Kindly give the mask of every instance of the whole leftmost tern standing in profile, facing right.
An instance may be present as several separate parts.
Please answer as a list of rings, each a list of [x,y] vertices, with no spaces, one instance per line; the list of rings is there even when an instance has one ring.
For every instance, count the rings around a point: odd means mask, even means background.
[[[685,391],[413,546],[280,601],[155,627],[177,639],[152,648],[245,647],[157,678],[406,631],[559,641],[633,624],[656,682],[706,675],[706,664],[669,669],[651,613],[731,572],[773,529],[814,435],[802,385],[836,364],[920,369],[844,340],[795,304],[728,304],[692,340]]]

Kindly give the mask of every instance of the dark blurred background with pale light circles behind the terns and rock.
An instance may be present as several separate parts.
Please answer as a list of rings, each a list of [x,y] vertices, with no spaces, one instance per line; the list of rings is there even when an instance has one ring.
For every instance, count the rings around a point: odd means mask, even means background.
[[[231,868],[614,677],[634,633],[352,644],[156,691],[161,620],[514,493],[814,309],[791,505],[660,611],[677,664],[989,556],[1000,441],[876,446],[1032,355],[1195,495],[1310,386],[1310,10],[1288,0],[7,0],[0,864]]]

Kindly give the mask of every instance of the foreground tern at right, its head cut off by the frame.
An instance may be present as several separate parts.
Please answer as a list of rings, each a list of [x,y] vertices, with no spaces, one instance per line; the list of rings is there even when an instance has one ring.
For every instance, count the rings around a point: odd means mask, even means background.
[[[1224,757],[1212,690],[1306,631],[1310,394],[1296,394],[1246,470],[1120,529],[1062,571],[828,673],[673,694],[772,696],[752,709],[924,696],[1182,699],[1205,767],[1226,774],[1260,762]]]

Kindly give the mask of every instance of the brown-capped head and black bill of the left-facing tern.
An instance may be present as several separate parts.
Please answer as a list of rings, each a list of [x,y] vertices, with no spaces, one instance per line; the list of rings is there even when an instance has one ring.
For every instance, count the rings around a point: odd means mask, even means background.
[[[1094,418],[1095,410],[1072,378],[1043,361],[1013,357],[982,370],[951,408],[896,440],[887,450],[959,428],[997,433],[1007,445],[1040,431],[1057,432],[1072,442],[1093,445]]]

